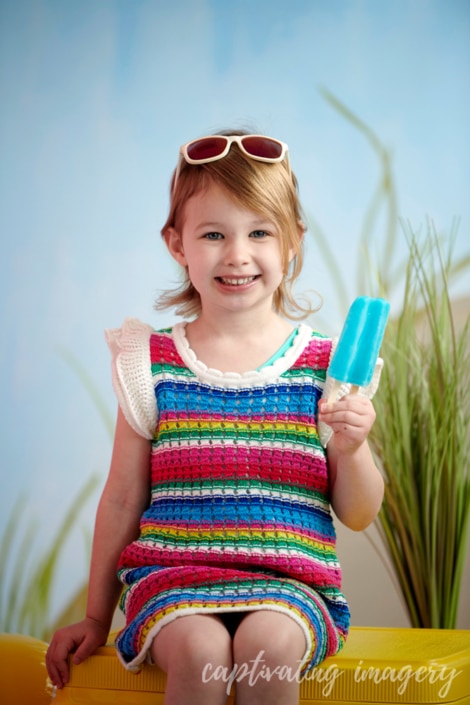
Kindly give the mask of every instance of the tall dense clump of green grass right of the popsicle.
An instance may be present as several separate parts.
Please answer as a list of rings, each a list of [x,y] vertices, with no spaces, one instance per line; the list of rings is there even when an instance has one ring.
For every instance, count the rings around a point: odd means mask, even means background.
[[[371,444],[385,477],[379,515],[410,620],[454,628],[470,518],[468,329],[456,329],[448,282],[452,248],[408,231],[402,311],[382,346]]]

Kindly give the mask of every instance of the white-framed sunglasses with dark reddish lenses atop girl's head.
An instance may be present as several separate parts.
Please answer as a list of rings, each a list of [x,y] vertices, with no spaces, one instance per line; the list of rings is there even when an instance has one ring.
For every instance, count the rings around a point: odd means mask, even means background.
[[[180,148],[173,189],[176,186],[183,160],[188,164],[208,164],[223,159],[236,142],[243,154],[259,162],[282,162],[287,160],[288,147],[284,142],[265,135],[210,135],[183,144]]]

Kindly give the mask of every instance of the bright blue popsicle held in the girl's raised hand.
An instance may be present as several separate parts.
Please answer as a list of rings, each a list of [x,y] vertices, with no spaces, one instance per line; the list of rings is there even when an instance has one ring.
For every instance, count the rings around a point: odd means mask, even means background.
[[[353,301],[328,368],[328,376],[339,385],[347,382],[357,391],[370,384],[389,311],[385,299],[360,296]]]

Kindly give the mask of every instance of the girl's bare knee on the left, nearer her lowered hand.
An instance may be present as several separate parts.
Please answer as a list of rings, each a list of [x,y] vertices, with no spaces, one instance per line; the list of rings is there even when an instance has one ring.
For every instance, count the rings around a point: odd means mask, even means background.
[[[223,622],[210,614],[178,617],[163,627],[151,654],[167,674],[165,705],[225,705],[227,682],[220,674],[230,675],[231,642]]]

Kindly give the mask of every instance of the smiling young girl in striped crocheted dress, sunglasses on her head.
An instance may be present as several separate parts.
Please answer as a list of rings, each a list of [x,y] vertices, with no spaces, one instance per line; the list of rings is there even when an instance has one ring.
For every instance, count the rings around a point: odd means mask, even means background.
[[[119,411],[87,614],[54,635],[49,675],[62,687],[68,655],[106,642],[124,584],[119,658],[165,670],[165,703],[222,705],[229,676],[237,705],[294,705],[346,639],[330,504],[354,530],[378,512],[374,409],[321,400],[332,341],[289,322],[309,312],[292,294],[304,228],[284,143],[184,145],[162,234],[184,282],[159,305],[186,321],[107,333]]]

